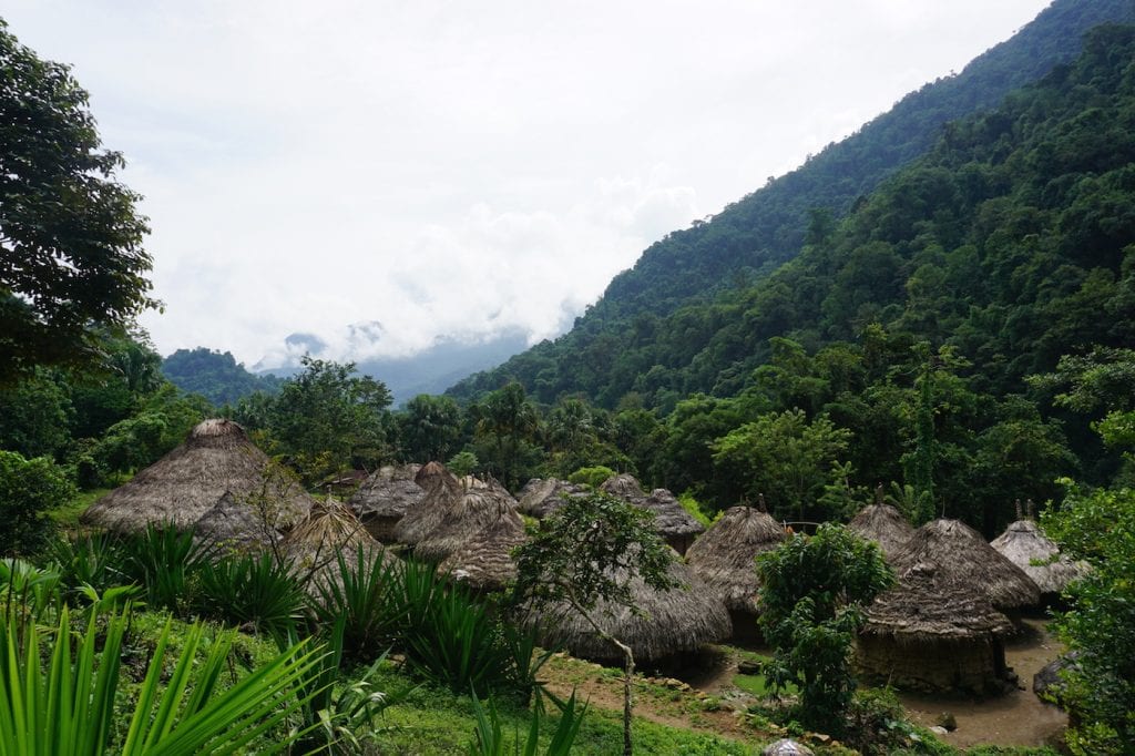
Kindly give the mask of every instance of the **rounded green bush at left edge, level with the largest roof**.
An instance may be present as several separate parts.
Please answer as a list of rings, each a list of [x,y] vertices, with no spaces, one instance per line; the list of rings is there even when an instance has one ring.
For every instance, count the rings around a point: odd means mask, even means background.
[[[0,554],[34,554],[54,534],[48,511],[75,497],[62,468],[45,456],[0,452]]]

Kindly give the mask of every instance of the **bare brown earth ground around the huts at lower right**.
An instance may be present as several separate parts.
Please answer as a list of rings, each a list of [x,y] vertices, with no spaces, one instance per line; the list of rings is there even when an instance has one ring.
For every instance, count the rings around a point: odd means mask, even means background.
[[[949,696],[900,694],[899,699],[911,720],[932,726],[950,713],[958,729],[940,736],[944,742],[965,748],[980,744],[999,746],[1051,745],[1068,723],[1056,706],[1042,703],[1033,694],[1033,674],[1056,658],[1061,645],[1039,619],[1024,620],[1025,631],[1006,645],[1006,660],[1020,678],[1025,690],[1001,698],[974,700]],[[763,649],[763,653],[768,653]],[[735,709],[753,702],[751,695],[733,684],[737,654],[728,647],[721,653],[698,657],[688,669],[667,678],[646,678],[636,686],[634,714],[654,722],[714,732],[723,738],[748,744],[767,739],[754,730]],[[592,706],[622,709],[622,680],[617,670],[557,656],[545,667],[549,688],[568,695],[575,687]]]

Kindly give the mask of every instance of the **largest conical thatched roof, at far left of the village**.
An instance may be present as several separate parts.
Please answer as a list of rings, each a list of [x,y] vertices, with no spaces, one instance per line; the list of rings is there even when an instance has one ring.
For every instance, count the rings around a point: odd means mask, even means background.
[[[303,518],[312,498],[299,482],[270,468],[244,429],[232,420],[205,420],[185,443],[110,492],[82,515],[85,524],[124,532],[170,522],[190,528],[226,493],[237,501],[271,505],[271,518],[288,527]]]

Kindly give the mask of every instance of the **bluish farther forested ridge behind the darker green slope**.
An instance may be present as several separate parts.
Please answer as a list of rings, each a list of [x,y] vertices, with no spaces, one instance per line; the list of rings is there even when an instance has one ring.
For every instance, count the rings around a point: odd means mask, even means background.
[[[544,402],[583,393],[614,406],[627,389],[608,355],[627,333],[650,336],[683,304],[746,285],[793,258],[809,213],[839,219],[896,168],[924,153],[942,126],[995,104],[1010,90],[1071,59],[1085,30],[1135,18],[1129,0],[1057,0],[1011,40],[975,59],[957,76],[925,85],[855,135],[831,144],[799,169],[725,208],[708,222],[676,230],[651,245],[630,270],[555,343],[544,342],[502,367],[451,389],[469,398],[516,379]],[[577,372],[580,359],[586,369]],[[623,383],[625,383],[623,380]]]

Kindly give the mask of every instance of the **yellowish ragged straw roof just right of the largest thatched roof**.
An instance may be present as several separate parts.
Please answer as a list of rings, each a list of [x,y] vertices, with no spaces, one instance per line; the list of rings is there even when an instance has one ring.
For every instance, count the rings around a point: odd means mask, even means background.
[[[358,566],[360,548],[369,558],[397,560],[367,532],[354,512],[333,498],[316,502],[309,516],[281,544],[294,573],[308,578],[308,590],[313,595],[320,586],[339,579],[339,554],[348,568]]]

